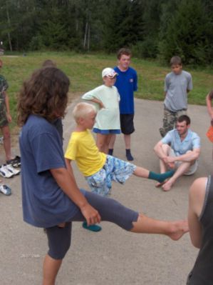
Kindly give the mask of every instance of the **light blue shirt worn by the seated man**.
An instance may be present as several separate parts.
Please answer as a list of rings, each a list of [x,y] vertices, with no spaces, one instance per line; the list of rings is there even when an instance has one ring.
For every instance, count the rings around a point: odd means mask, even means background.
[[[193,149],[200,149],[200,138],[190,129],[183,141],[180,140],[177,129],[168,131],[161,141],[163,144],[170,144],[171,148],[175,151],[176,156],[186,154],[187,151],[192,151]]]

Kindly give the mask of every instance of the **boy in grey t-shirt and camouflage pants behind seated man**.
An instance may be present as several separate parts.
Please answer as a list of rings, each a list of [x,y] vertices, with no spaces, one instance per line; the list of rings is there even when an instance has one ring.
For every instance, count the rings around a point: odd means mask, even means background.
[[[173,56],[170,60],[172,72],[165,77],[164,118],[161,136],[175,128],[177,118],[187,114],[187,93],[192,90],[192,76],[182,70],[182,60]]]

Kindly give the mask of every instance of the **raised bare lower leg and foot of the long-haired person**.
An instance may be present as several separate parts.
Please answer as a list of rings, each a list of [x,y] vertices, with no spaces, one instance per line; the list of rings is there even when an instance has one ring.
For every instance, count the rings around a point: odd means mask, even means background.
[[[189,227],[187,221],[159,221],[139,214],[137,221],[133,222],[131,231],[144,234],[165,234],[177,241],[189,231]]]

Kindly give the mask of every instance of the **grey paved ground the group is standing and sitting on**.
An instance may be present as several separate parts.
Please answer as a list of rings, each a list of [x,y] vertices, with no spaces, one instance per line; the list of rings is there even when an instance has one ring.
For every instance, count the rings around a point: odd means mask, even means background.
[[[159,171],[153,146],[160,139],[162,102],[135,100],[135,134],[133,155],[135,164]],[[65,145],[73,129],[73,104],[64,120]],[[155,189],[155,181],[131,177],[125,186],[113,185],[112,196],[126,206],[143,211],[157,219],[185,219],[188,190],[199,176],[212,173],[212,145],[205,132],[209,119],[204,106],[189,106],[192,130],[202,138],[202,154],[197,174],[182,177],[172,191]],[[118,136],[115,155],[125,159],[123,137]],[[0,162],[3,163],[1,151]],[[78,185],[88,189],[75,169]],[[20,178],[6,181],[13,194],[0,194],[0,276],[2,285],[40,285],[43,256],[47,250],[46,234],[22,221]],[[58,285],[179,285],[185,284],[194,264],[197,250],[189,235],[180,241],[165,236],[130,234],[113,224],[103,222],[103,231],[92,233],[73,224],[70,251],[58,274]]]

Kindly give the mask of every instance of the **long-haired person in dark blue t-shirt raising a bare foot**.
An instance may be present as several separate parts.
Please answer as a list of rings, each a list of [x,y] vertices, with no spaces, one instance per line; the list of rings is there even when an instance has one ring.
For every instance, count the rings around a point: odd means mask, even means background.
[[[52,124],[64,115],[68,87],[68,77],[50,67],[35,71],[19,94],[23,215],[26,223],[46,228],[49,249],[43,261],[43,285],[56,284],[71,246],[72,221],[87,221],[88,225],[110,221],[127,231],[165,234],[173,240],[188,231],[187,221],[151,219],[114,199],[78,188],[66,169],[62,140]]]

